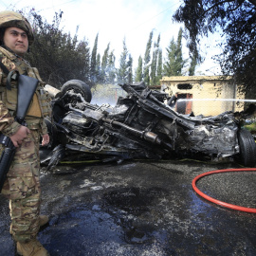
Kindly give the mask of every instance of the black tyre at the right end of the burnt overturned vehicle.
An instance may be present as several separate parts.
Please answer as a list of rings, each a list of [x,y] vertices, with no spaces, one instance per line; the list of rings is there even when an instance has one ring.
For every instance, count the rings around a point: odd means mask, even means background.
[[[256,143],[247,130],[238,131],[238,142],[240,146],[240,160],[247,167],[254,167],[256,163]]]

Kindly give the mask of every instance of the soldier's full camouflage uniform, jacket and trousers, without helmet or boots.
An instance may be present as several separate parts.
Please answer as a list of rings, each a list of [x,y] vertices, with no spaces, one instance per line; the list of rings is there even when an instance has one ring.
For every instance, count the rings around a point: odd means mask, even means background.
[[[36,68],[22,58],[0,46],[0,61],[10,70],[18,70],[39,80],[37,91],[27,111],[27,128],[30,134],[16,148],[2,193],[9,198],[11,216],[10,231],[13,239],[27,242],[34,239],[39,230],[41,189],[39,182],[39,140],[47,133],[44,117],[50,115],[49,102]],[[17,82],[11,82],[11,90],[6,88],[7,75],[0,69],[0,132],[10,137],[20,128],[14,120],[17,103]],[[0,154],[3,145],[0,144]]]

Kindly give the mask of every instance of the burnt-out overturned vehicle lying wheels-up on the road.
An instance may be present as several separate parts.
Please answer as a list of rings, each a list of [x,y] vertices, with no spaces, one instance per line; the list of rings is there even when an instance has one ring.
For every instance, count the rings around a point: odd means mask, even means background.
[[[51,154],[42,161],[47,169],[72,159],[183,157],[234,159],[255,166],[254,138],[233,112],[207,118],[182,115],[164,103],[170,100],[167,94],[150,90],[143,82],[119,86],[127,95],[113,107],[91,104],[84,82],[64,84],[52,100],[52,118],[46,119]]]

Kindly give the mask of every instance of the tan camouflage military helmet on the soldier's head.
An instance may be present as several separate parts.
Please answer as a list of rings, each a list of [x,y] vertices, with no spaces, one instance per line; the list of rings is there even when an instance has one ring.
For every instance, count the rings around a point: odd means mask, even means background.
[[[27,33],[29,46],[33,43],[34,35],[32,27],[21,13],[11,10],[0,11],[0,29],[2,30],[6,27],[18,27],[23,29]]]

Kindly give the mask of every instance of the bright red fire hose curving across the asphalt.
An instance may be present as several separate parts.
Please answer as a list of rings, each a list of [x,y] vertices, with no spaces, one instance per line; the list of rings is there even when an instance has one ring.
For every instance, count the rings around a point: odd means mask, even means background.
[[[210,197],[209,195],[205,194],[204,192],[201,192],[200,190],[198,190],[198,188],[196,187],[196,181],[198,179],[200,179],[201,177],[210,175],[210,174],[219,174],[219,173],[228,173],[228,172],[255,172],[256,168],[244,168],[244,169],[224,169],[224,170],[216,170],[216,171],[210,171],[208,173],[204,173],[204,174],[200,174],[198,176],[196,176],[193,180],[192,180],[192,188],[195,192],[197,192],[199,195],[201,195],[203,198],[207,199],[208,201],[220,205],[222,207],[225,208],[229,208],[232,210],[241,210],[241,211],[246,211],[246,212],[251,212],[251,213],[256,213],[256,209],[254,208],[246,208],[246,207],[241,207],[241,206],[236,206],[236,205],[231,205],[225,202],[222,202],[220,200],[214,199],[212,197]]]

